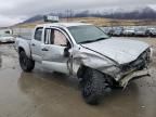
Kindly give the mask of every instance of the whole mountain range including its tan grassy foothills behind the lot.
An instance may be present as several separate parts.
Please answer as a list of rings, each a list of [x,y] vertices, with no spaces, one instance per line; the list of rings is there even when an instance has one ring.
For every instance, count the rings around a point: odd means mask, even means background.
[[[114,13],[103,13],[84,10],[74,13],[70,10],[67,14],[63,11],[49,14],[60,16],[61,22],[83,22],[98,26],[156,25],[156,11],[148,6],[139,10],[135,9],[131,12],[116,11]],[[43,15],[36,15],[15,26],[34,27],[42,23]]]

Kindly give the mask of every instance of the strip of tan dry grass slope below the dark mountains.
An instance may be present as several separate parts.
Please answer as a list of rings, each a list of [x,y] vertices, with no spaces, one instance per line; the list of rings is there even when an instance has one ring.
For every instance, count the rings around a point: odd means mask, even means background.
[[[156,21],[144,21],[144,20],[110,20],[102,17],[79,17],[79,18],[62,18],[61,22],[82,22],[90,23],[96,26],[138,26],[138,25],[156,25]],[[32,28],[38,24],[43,24],[43,21],[20,24],[15,27]]]

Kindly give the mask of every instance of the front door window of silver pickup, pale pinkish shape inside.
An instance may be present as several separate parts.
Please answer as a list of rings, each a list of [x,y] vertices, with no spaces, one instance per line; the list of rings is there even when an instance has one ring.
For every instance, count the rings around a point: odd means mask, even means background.
[[[67,39],[66,36],[60,30],[48,28],[44,32],[44,43],[66,47]]]

